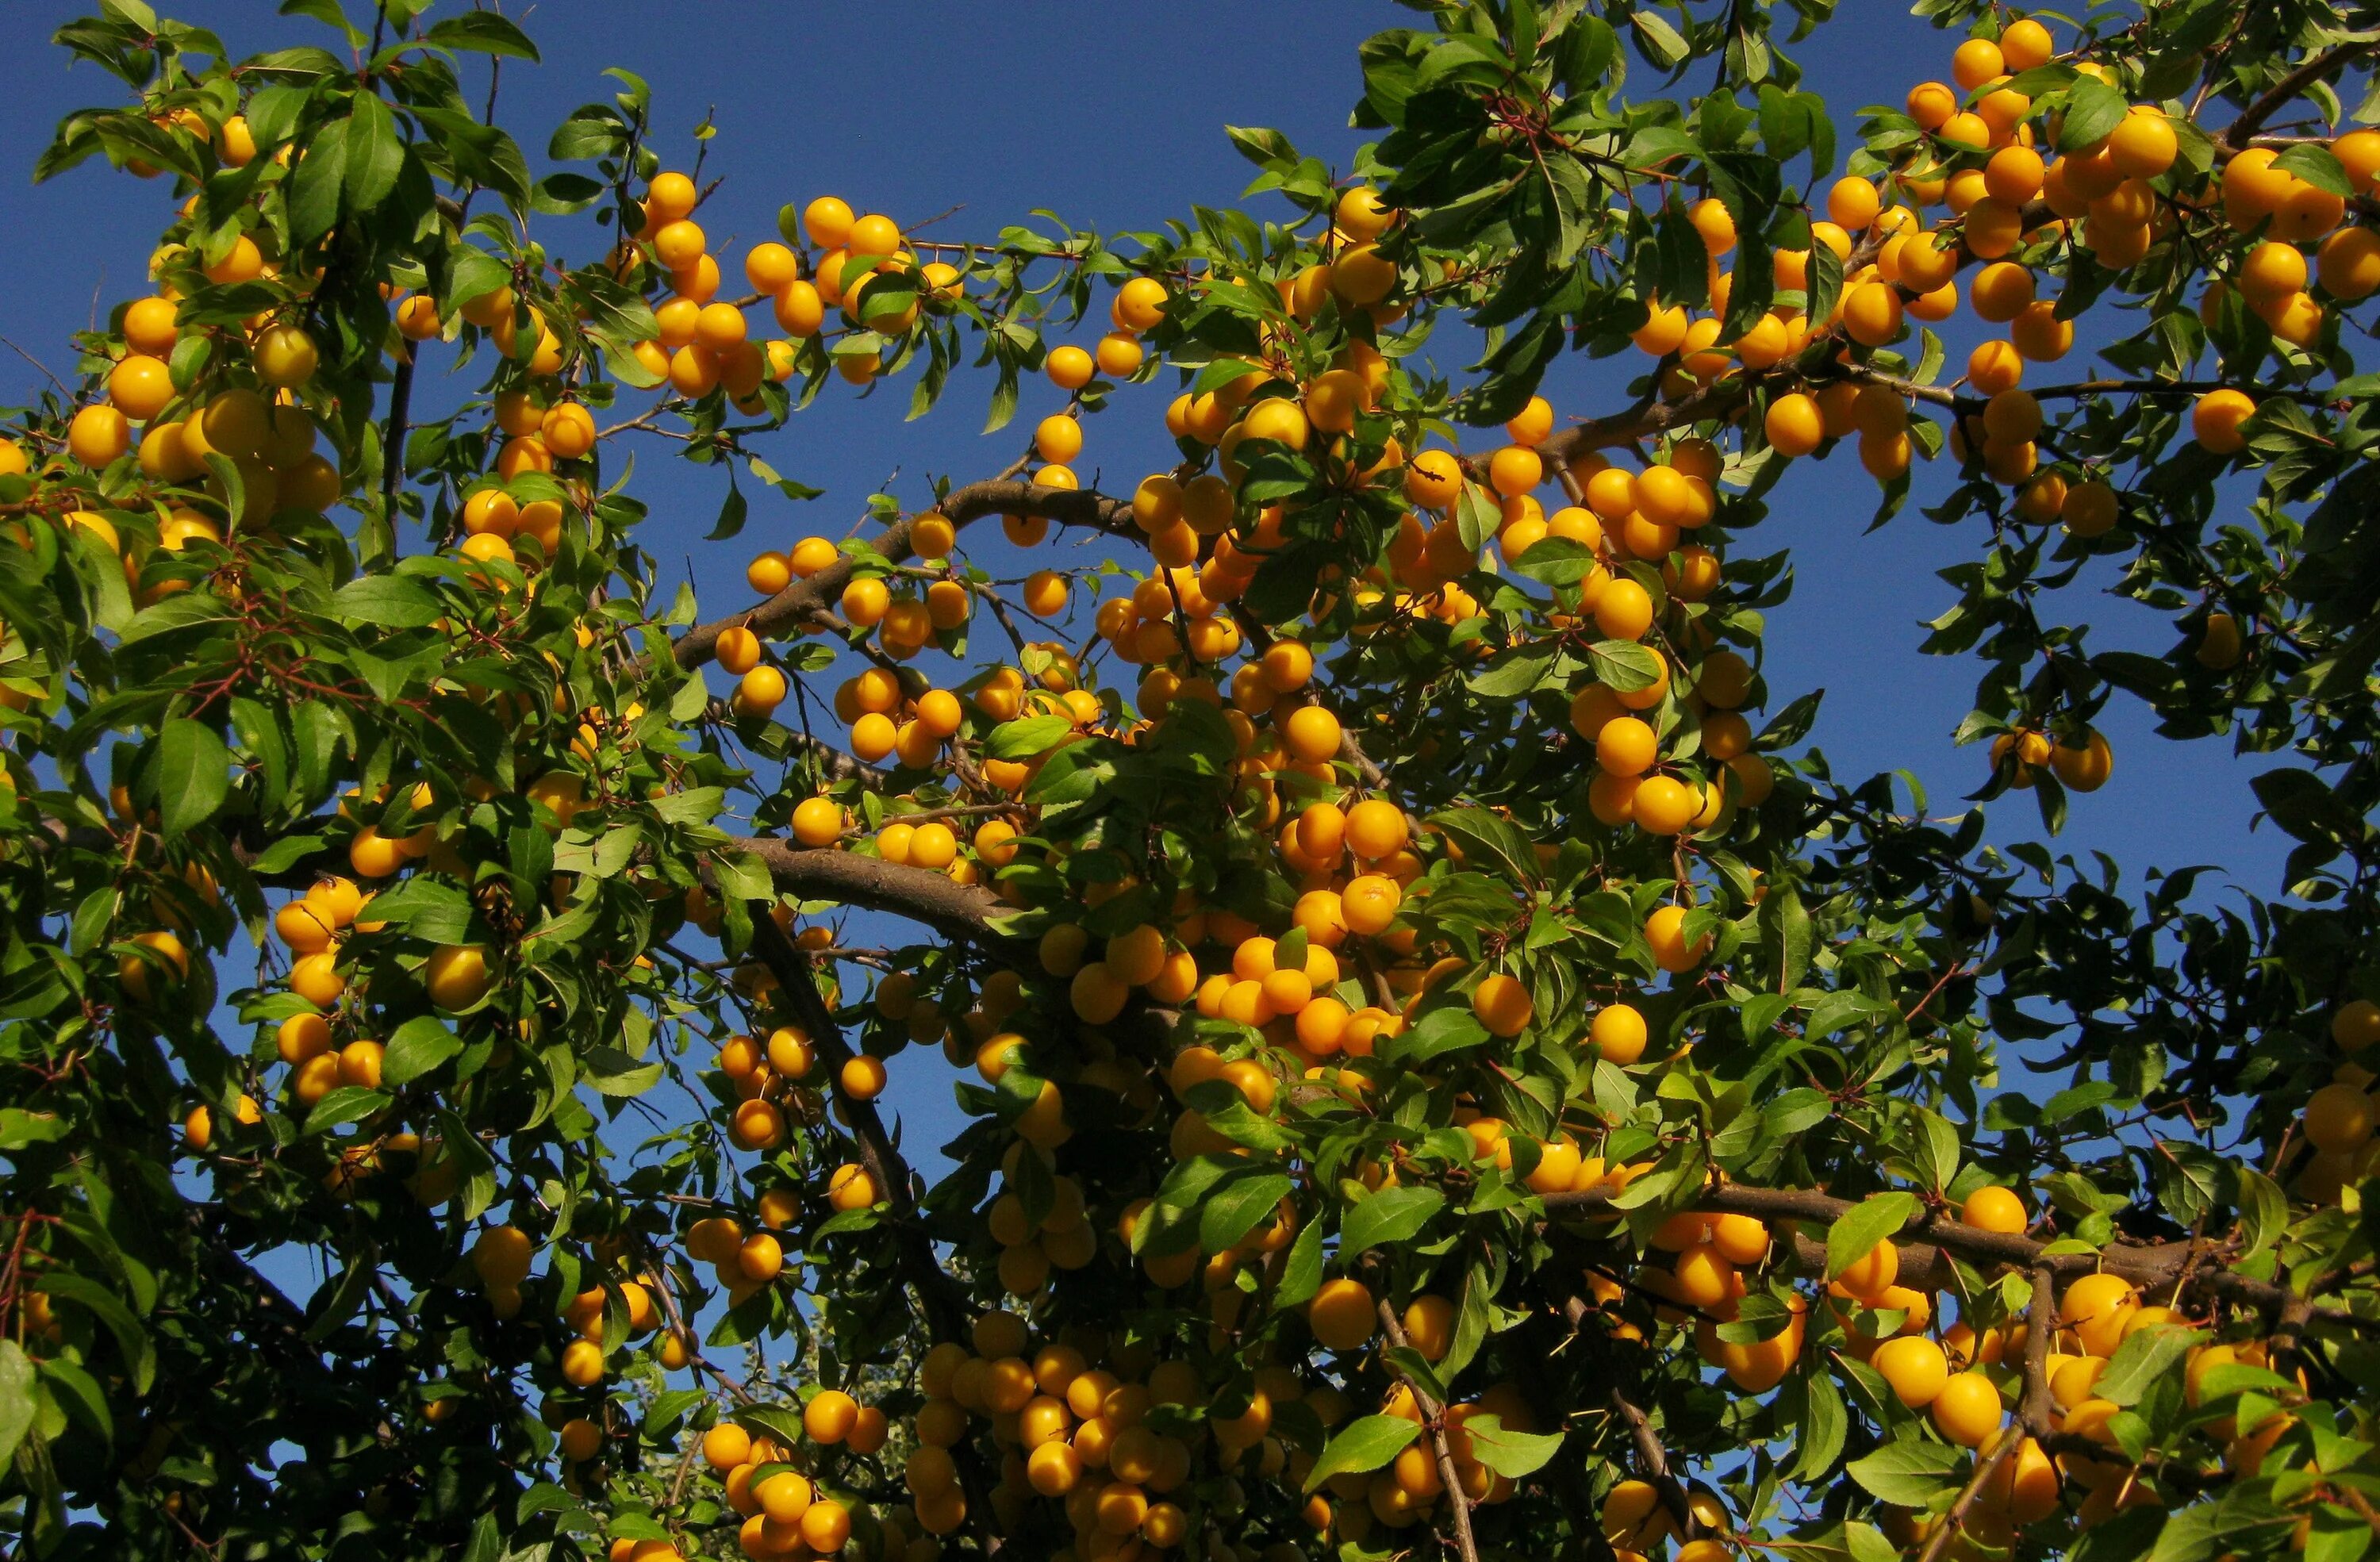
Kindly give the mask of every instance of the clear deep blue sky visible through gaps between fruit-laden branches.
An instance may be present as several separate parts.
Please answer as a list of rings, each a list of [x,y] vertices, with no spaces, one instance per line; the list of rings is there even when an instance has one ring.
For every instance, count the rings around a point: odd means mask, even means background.
[[[362,0],[350,7],[369,10]],[[69,362],[67,331],[140,288],[143,260],[169,214],[162,183],[136,183],[95,162],[48,186],[29,181],[60,114],[117,100],[112,79],[88,64],[69,69],[45,43],[57,21],[88,10],[62,0],[14,0],[7,10],[19,64],[0,100],[0,229],[17,236],[24,260],[0,290],[0,336],[52,367]],[[188,0],[164,10],[217,29],[233,52],[331,40],[314,21],[274,17],[264,0]],[[514,5],[507,12],[521,14]],[[726,183],[702,224],[731,271],[745,245],[774,236],[783,202],[821,193],[904,224],[964,207],[933,229],[940,238],[990,238],[1033,207],[1057,210],[1078,226],[1147,229],[1192,202],[1238,198],[1252,169],[1226,143],[1223,124],[1276,126],[1345,164],[1357,145],[1345,126],[1357,95],[1354,48],[1383,26],[1414,21],[1414,12],[1385,0],[1295,7],[1038,0],[897,14],[769,0],[666,10],[640,0],[547,0],[524,17],[545,64],[505,64],[500,119],[531,167],[545,171],[552,124],[609,93],[602,67],[624,64],[652,83],[664,129],[659,150],[678,167],[693,157],[688,133],[714,112],[719,138],[707,176],[724,174]],[[1949,40],[1899,5],[1859,0],[1802,45],[1802,57],[1811,86],[1837,107],[1837,133],[1849,145],[1859,105],[1897,102],[1916,79],[1947,76]],[[474,81],[486,79],[483,60],[464,69]],[[1706,67],[1697,67],[1695,83],[1704,81]],[[1659,93],[1642,62],[1633,88]],[[566,221],[552,226],[585,233]],[[588,248],[585,238],[559,240],[569,260],[583,260]],[[1973,340],[1973,321],[1954,326],[1952,362],[1964,362]],[[1547,393],[1561,417],[1611,412],[1628,400],[1626,379],[1640,367],[1633,357],[1564,360]],[[36,383],[21,357],[0,352],[0,402],[26,400]],[[654,507],[645,545],[666,569],[693,569],[707,612],[721,612],[750,600],[743,564],[752,550],[785,548],[809,531],[840,536],[864,495],[888,483],[914,507],[928,474],[985,476],[1014,457],[1031,419],[1061,405],[1047,383],[1028,383],[1019,424],[988,441],[978,436],[988,381],[954,376],[942,410],[919,424],[902,421],[907,383],[888,390],[854,400],[831,383],[797,414],[766,457],[788,476],[826,488],[826,498],[790,505],[757,495],[750,529],[735,543],[700,541],[719,512],[721,474],[690,469],[671,448],[647,441],[635,481]],[[1128,491],[1140,474],[1171,464],[1159,424],[1169,395],[1169,388],[1128,390],[1116,410],[1088,424],[1078,462],[1085,481],[1104,474],[1107,488]],[[1918,500],[1944,486],[1944,471],[1923,474]],[[1906,767],[1923,776],[1935,814],[1956,812],[1956,798],[1985,774],[1980,748],[1952,748],[1975,667],[1921,657],[1916,648],[1918,621],[1954,600],[1933,571],[1973,557],[1980,533],[1935,526],[1914,502],[1892,526],[1864,536],[1875,491],[1849,452],[1797,471],[1771,502],[1773,519],[1742,545],[1797,552],[1799,588],[1771,614],[1773,702],[1825,686],[1814,741],[1837,776]],[[1019,564],[992,536],[971,536],[969,550],[997,574]],[[2097,624],[2099,648],[2161,652],[2175,641],[2161,617],[2116,598],[2071,595],[2059,607],[2068,619]],[[2116,743],[2116,779],[2092,798],[2075,798],[2059,850],[2106,850],[2135,886],[2152,862],[2213,862],[2256,893],[2280,891],[2282,841],[2271,829],[2247,831],[2249,762],[2232,760],[2223,741],[2154,738],[2125,695],[2102,726]],[[2002,802],[1992,833],[2037,836],[2030,800]],[[916,1057],[904,1064],[895,1064],[892,1100],[926,1119],[912,1124],[909,1141],[940,1143],[942,1129],[954,1126],[945,1071],[919,1067]]]

